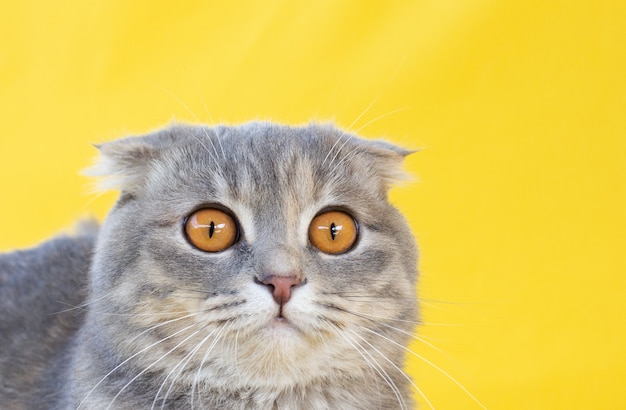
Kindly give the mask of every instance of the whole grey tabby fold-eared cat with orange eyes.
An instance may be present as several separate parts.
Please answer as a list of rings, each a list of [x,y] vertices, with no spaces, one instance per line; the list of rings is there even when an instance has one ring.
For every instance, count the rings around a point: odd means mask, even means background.
[[[98,148],[101,228],[0,257],[2,408],[413,408],[409,151],[266,122]]]

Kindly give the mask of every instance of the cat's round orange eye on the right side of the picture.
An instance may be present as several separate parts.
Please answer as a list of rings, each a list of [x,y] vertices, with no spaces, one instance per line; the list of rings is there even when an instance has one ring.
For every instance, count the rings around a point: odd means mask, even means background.
[[[324,253],[343,253],[354,245],[358,233],[354,219],[342,211],[329,211],[313,218],[309,241]]]

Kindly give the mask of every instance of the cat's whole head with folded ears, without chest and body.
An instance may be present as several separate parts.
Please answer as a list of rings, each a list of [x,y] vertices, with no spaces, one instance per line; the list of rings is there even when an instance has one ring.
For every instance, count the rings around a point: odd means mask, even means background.
[[[400,149],[255,123],[175,126],[101,150],[122,193],[90,314],[113,362],[224,388],[358,377],[380,355],[402,365],[416,251],[387,201]]]

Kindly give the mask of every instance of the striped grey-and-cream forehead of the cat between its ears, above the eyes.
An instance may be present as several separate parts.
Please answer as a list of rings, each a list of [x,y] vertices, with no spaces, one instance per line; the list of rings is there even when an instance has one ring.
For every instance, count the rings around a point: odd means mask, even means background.
[[[332,128],[252,124],[189,131],[177,133],[174,149],[155,162],[158,180],[170,174],[181,186],[217,200],[276,210],[329,200],[362,185],[354,169],[356,151],[347,149],[355,150],[352,137]]]

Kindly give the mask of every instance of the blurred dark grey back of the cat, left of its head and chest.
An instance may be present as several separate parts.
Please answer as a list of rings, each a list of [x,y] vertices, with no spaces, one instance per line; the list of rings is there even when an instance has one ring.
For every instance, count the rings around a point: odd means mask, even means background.
[[[0,397],[26,403],[83,321],[95,232],[0,254]],[[26,396],[23,396],[26,394]]]

